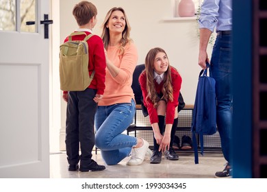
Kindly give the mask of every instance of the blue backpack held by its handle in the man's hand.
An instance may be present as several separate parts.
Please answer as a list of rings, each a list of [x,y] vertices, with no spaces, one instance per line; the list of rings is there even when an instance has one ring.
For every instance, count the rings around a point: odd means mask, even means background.
[[[209,68],[208,63],[207,67]],[[203,155],[203,135],[215,134],[217,131],[216,128],[215,80],[212,77],[210,69],[209,76],[207,76],[207,69],[203,69],[201,73],[199,73],[191,126],[195,164],[199,163],[196,134],[199,134],[201,154]]]

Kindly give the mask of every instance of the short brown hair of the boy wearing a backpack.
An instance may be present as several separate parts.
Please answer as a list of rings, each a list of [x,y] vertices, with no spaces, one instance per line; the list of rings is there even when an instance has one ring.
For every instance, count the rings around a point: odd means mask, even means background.
[[[73,16],[79,26],[86,25],[93,16],[97,16],[97,8],[89,1],[81,1],[73,8]]]

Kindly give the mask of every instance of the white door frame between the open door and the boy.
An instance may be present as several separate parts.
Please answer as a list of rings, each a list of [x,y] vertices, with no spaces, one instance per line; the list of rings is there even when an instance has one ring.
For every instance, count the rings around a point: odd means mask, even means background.
[[[66,129],[66,102],[62,99],[60,90],[59,73],[59,47],[62,44],[60,36],[60,0],[51,1],[51,12],[53,16],[52,27],[52,47],[51,47],[51,65],[50,65],[50,152],[58,153],[64,151],[65,147],[65,129]],[[64,1],[68,3],[68,1]],[[70,13],[71,14],[71,13]]]

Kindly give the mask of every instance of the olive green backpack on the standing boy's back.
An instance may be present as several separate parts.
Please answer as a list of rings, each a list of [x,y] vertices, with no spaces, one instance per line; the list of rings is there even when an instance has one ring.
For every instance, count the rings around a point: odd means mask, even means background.
[[[84,40],[72,40],[72,36],[84,34]],[[62,91],[84,91],[94,77],[88,72],[88,43],[93,36],[85,32],[73,32],[68,36],[68,41],[60,45],[60,89]]]

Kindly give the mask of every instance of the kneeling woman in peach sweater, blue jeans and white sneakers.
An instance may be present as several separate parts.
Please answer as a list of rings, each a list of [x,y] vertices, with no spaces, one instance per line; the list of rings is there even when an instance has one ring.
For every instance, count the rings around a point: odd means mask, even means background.
[[[130,153],[127,165],[140,165],[149,149],[144,139],[123,134],[136,112],[131,82],[138,52],[129,38],[130,29],[123,8],[107,12],[101,35],[107,64],[105,93],[95,115],[96,146],[107,165],[120,163]]]

